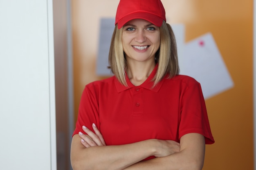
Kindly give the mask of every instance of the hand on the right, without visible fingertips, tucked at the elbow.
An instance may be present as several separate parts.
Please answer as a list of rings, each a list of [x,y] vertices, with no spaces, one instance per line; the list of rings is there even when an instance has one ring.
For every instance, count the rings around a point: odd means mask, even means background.
[[[155,157],[165,157],[180,152],[180,143],[173,140],[155,139]]]

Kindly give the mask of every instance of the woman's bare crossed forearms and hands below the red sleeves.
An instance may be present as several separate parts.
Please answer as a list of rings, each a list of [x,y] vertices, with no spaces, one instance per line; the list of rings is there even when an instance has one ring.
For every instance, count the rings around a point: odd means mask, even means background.
[[[84,134],[74,135],[71,163],[74,170],[201,170],[204,163],[204,136],[189,133],[180,144],[172,140],[148,139],[126,145],[106,146],[97,129],[83,128]],[[142,161],[147,157],[156,158]]]

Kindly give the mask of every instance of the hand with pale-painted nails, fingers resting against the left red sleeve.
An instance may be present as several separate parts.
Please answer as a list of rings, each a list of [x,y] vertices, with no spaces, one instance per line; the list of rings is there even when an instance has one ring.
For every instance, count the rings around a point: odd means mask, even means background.
[[[79,132],[79,136],[81,137],[81,143],[83,144],[83,146],[85,146],[86,148],[89,148],[91,146],[106,146],[103,136],[101,135],[99,129],[94,123],[92,124],[92,129],[95,133],[90,131],[90,129],[85,126],[83,126],[83,131],[87,133],[87,135]]]

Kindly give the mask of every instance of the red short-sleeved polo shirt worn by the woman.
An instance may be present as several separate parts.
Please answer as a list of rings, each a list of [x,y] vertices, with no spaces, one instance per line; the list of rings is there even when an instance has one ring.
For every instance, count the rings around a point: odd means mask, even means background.
[[[74,134],[95,123],[106,145],[152,138],[180,142],[187,133],[200,133],[213,144],[200,84],[189,76],[166,76],[152,89],[156,70],[139,86],[128,80],[125,87],[115,76],[86,85]]]

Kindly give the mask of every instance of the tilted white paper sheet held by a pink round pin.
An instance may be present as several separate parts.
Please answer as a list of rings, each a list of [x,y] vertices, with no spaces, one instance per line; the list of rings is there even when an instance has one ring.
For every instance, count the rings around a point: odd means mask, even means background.
[[[179,63],[180,74],[195,78],[202,86],[205,99],[234,86],[211,33],[186,43]]]

